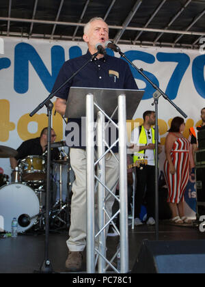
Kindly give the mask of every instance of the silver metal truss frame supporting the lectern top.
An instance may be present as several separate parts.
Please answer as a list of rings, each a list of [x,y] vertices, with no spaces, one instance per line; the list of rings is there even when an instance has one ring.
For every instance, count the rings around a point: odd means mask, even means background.
[[[94,206],[94,105],[99,109],[97,119],[97,147],[98,159],[96,165],[98,167],[98,174],[96,180],[98,182],[98,229],[97,234],[94,235],[95,227],[94,221],[95,206]],[[112,189],[106,187],[105,184],[105,117],[110,121],[111,118],[94,103],[94,96],[87,94],[86,96],[86,134],[87,134],[87,273],[95,273],[94,258],[95,254],[98,256],[98,272],[105,273],[106,263],[113,268],[116,273],[128,272],[128,210],[127,210],[127,174],[126,174],[126,96],[124,94],[118,96],[118,122],[115,126],[119,130],[119,155],[120,155],[120,210],[109,217],[106,210],[107,197],[114,196]],[[117,140],[118,141],[118,140]],[[115,141],[115,143],[117,142]],[[111,152],[109,147],[109,152]],[[106,193],[107,195],[106,195]],[[113,218],[120,213],[120,265],[121,269],[118,271],[113,267],[112,262],[117,256],[118,251],[109,261],[106,258],[106,229]],[[95,249],[94,238],[98,242],[98,247]]]

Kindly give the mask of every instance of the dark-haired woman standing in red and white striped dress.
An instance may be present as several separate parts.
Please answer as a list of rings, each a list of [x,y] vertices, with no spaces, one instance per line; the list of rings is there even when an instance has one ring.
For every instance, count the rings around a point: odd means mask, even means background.
[[[165,180],[168,187],[169,206],[174,223],[190,223],[184,217],[184,191],[189,180],[189,141],[183,137],[184,120],[176,117],[165,140]]]

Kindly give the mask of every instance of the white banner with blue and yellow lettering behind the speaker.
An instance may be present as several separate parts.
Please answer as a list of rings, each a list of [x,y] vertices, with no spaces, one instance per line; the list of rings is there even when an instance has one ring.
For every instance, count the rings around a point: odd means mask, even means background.
[[[0,54],[0,145],[16,149],[25,139],[38,137],[42,128],[47,126],[45,108],[38,111],[38,115],[33,118],[29,117],[29,113],[50,94],[61,64],[70,57],[86,53],[87,44],[18,38],[1,39],[4,49],[1,49]],[[188,137],[188,128],[200,121],[200,110],[205,107],[205,55],[201,55],[200,51],[181,49],[128,45],[121,45],[120,48],[138,68],[143,68],[154,75],[161,90],[165,92],[169,84],[168,96],[174,97],[174,103],[188,115],[187,130],[184,133]],[[133,70],[133,74],[138,78],[136,71]],[[150,77],[154,79],[152,75]],[[142,122],[143,111],[154,110],[151,93],[154,91],[148,90],[144,81],[136,79],[136,82],[140,89],[146,90],[146,98],[141,100],[133,118]],[[178,91],[175,96],[176,90]],[[177,115],[180,116],[178,111],[160,97],[159,132],[163,144],[170,120]],[[65,126],[58,114],[53,115],[53,128],[57,133],[56,141],[64,139]],[[163,152],[159,159],[160,168],[163,167],[164,159]],[[10,175],[9,159],[0,159],[0,172]]]

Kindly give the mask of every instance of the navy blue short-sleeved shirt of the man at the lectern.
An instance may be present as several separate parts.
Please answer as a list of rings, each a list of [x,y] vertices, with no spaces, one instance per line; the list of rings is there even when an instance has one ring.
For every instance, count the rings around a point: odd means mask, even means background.
[[[91,58],[92,55],[87,51],[87,53],[81,57],[66,61],[59,71],[52,93]],[[74,78],[68,81],[55,96],[57,98],[69,100],[68,94],[70,87],[102,87],[107,89],[137,90],[137,84],[135,83],[133,74],[126,61],[109,55],[90,61],[87,66],[75,75]],[[72,119],[72,122],[77,122],[81,130],[80,119]],[[70,132],[71,131],[66,131],[66,135]],[[84,145],[81,145],[81,131],[79,137],[80,141],[75,141],[74,145],[71,145],[70,147],[85,148]],[[79,142],[79,145],[77,142]],[[85,139],[82,143],[84,142]],[[113,149],[113,151],[117,152],[118,149]]]

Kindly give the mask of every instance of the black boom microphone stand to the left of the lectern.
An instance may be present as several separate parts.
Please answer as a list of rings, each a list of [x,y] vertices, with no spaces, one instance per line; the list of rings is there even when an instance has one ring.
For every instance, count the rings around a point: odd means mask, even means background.
[[[90,61],[93,61],[93,59],[100,53],[98,51],[97,53],[94,53],[92,55],[91,59],[87,61],[77,72],[74,72],[72,76],[67,79],[60,87],[57,88],[53,93],[51,93],[43,102],[36,107],[29,115],[32,117],[35,115],[42,107],[46,106],[47,108],[47,116],[48,116],[48,145],[47,145],[47,170],[46,170],[46,228],[45,228],[45,250],[44,250],[44,262],[42,263],[40,267],[40,271],[34,271],[34,273],[53,273],[53,269],[51,266],[51,260],[49,260],[49,192],[50,192],[50,180],[51,180],[51,117],[52,117],[52,109],[53,109],[53,102],[51,102],[51,98],[55,96],[59,90],[61,90],[66,83],[68,83],[74,76],[76,76]]]

